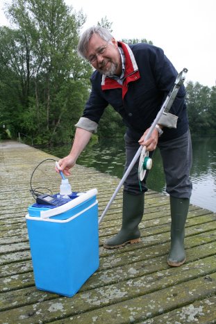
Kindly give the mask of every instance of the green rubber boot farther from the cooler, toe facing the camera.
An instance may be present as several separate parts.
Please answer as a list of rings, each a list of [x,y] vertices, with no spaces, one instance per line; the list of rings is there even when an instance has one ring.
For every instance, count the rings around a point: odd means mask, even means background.
[[[170,196],[171,211],[171,247],[167,264],[169,266],[181,266],[185,263],[185,221],[188,216],[190,200],[188,198],[176,198]]]

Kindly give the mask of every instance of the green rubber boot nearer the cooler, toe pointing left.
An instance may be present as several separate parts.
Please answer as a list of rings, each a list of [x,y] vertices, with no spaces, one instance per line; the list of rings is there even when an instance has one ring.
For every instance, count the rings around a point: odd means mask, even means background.
[[[122,228],[119,233],[103,243],[103,248],[120,248],[127,243],[140,242],[140,229],[138,225],[144,212],[144,193],[131,195],[123,193]]]

